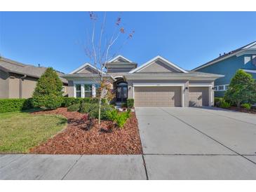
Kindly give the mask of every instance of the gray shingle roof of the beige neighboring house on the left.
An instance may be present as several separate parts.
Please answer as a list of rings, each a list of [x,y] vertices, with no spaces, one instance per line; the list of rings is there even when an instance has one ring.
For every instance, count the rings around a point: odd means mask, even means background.
[[[12,72],[15,74],[23,74],[27,76],[33,76],[36,78],[40,78],[40,76],[46,71],[46,67],[35,67],[31,64],[22,64],[20,62],[16,62],[13,60],[6,59],[4,57],[0,57],[0,69],[4,71]],[[60,71],[57,71],[57,74],[60,76],[60,80],[62,83],[67,83],[65,78],[61,76],[64,75]]]

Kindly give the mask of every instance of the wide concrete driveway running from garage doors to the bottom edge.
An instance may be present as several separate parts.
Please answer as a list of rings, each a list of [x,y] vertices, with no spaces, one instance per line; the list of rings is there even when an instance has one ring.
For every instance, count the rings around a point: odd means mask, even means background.
[[[256,179],[256,116],[137,108],[149,179]]]

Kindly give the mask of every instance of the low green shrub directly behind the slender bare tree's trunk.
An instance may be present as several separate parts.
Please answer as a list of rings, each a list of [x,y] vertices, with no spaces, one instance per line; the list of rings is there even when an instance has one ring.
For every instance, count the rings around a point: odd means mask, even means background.
[[[107,119],[108,111],[113,111],[113,107],[103,104],[100,107],[101,119]],[[81,104],[81,113],[89,114],[90,118],[98,118],[99,116],[99,104],[83,103]]]

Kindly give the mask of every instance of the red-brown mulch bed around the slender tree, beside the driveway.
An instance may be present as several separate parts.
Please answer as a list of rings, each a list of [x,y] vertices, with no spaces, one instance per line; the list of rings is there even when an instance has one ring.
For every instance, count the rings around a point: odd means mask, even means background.
[[[112,121],[102,121],[102,127],[112,127],[112,132],[100,132],[97,119],[91,121],[90,130],[86,130],[90,121],[83,122],[84,114],[69,112],[67,108],[51,111],[38,111],[33,114],[60,114],[67,117],[65,130],[46,143],[30,149],[30,153],[40,154],[141,154],[142,146],[135,113],[122,129]]]

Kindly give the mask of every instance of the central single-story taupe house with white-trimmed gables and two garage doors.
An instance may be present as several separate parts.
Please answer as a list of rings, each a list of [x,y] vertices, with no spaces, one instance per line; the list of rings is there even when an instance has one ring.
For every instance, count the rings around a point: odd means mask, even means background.
[[[218,74],[184,70],[161,56],[137,67],[136,62],[121,55],[106,64],[104,78],[116,90],[114,102],[135,101],[135,107],[212,106],[213,87]],[[99,87],[98,69],[83,64],[70,74],[69,97],[95,97]]]

